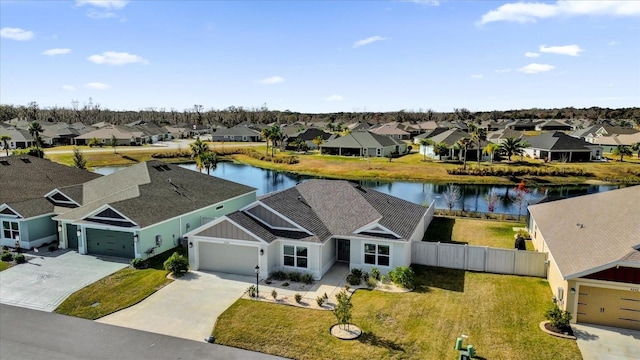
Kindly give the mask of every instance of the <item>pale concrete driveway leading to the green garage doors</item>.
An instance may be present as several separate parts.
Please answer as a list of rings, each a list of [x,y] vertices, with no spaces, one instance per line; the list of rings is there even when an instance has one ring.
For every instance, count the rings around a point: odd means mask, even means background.
[[[27,263],[0,272],[0,303],[48,312],[74,292],[128,266],[125,260],[107,261],[72,250],[25,257]]]

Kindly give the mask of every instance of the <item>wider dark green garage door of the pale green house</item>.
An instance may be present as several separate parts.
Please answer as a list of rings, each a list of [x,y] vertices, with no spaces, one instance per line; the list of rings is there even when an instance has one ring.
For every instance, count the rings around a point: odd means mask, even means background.
[[[133,259],[133,234],[122,231],[87,229],[87,253]]]

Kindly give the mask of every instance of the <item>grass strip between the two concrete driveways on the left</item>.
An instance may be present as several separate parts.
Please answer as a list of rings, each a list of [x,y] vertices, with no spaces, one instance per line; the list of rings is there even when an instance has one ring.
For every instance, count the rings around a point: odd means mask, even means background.
[[[162,264],[174,251],[151,258],[147,269],[125,268],[76,291],[56,312],[95,320],[139,303],[172,281]]]

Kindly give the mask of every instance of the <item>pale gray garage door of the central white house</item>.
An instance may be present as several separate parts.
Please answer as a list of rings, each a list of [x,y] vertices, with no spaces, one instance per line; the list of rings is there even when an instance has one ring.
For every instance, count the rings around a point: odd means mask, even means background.
[[[258,248],[200,242],[200,270],[254,275],[258,265]]]

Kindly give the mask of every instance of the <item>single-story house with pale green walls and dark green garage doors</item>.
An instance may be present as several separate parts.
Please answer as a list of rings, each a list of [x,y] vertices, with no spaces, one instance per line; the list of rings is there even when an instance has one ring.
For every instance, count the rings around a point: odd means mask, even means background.
[[[256,189],[148,161],[80,185],[57,187],[60,247],[81,254],[148,258],[184,233],[255,201]]]

